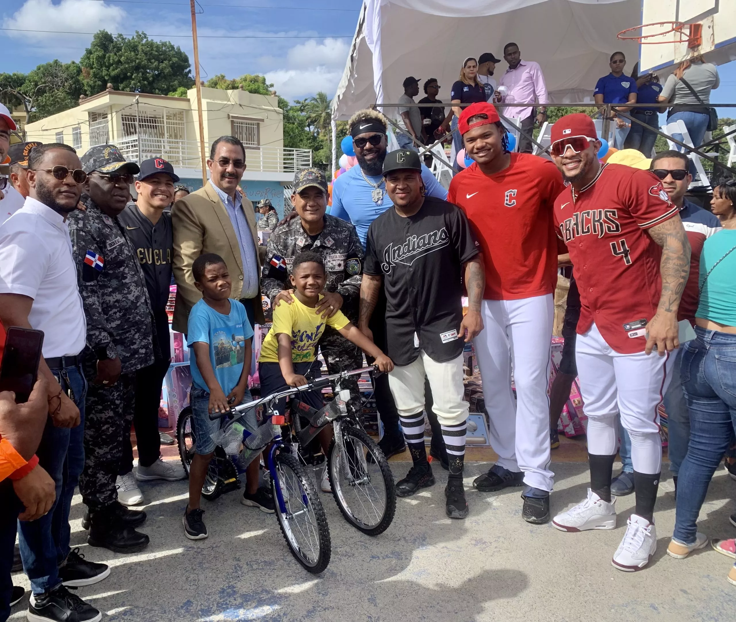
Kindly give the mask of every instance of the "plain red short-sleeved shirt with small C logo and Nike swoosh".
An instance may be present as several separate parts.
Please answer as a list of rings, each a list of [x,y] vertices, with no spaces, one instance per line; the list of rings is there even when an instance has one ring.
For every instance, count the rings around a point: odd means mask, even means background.
[[[557,241],[552,210],[565,186],[551,161],[512,153],[508,168],[486,175],[478,164],[455,175],[447,200],[467,215],[486,265],[486,300],[553,293]]]

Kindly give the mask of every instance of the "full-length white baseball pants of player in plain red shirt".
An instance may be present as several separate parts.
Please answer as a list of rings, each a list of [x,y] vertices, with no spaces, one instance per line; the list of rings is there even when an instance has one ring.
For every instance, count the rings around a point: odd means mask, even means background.
[[[549,492],[554,479],[547,395],[553,314],[551,294],[484,300],[481,315],[485,328],[473,340],[497,464],[509,471],[523,471],[527,486]]]

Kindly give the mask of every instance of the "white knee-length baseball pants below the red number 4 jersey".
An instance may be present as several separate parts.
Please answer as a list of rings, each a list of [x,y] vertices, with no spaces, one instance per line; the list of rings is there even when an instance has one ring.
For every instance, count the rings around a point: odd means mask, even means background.
[[[662,470],[662,439],[657,407],[667,391],[676,356],[657,352],[620,354],[606,343],[593,324],[576,339],[580,393],[588,417],[588,452],[613,455],[618,425],[631,438],[634,471],[655,475]]]

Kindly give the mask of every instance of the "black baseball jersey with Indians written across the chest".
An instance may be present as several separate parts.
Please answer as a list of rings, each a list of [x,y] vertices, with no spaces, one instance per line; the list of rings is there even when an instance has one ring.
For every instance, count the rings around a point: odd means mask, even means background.
[[[462,265],[479,253],[459,207],[426,197],[404,218],[394,208],[368,229],[364,273],[383,276],[386,290],[386,354],[408,365],[424,350],[443,363],[462,352]]]

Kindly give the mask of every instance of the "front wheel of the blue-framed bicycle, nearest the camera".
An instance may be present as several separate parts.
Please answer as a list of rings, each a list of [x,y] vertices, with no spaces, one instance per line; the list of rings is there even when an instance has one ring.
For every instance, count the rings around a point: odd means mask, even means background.
[[[310,573],[321,573],[330,563],[332,544],[322,502],[297,458],[286,452],[275,456],[278,478],[271,481],[276,518],[291,554]],[[283,492],[286,513],[280,511],[276,486]]]

